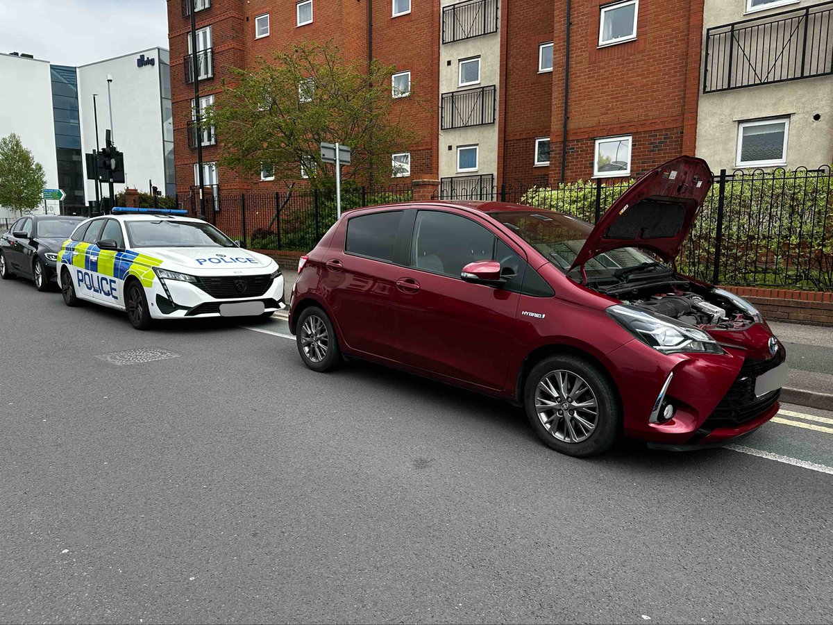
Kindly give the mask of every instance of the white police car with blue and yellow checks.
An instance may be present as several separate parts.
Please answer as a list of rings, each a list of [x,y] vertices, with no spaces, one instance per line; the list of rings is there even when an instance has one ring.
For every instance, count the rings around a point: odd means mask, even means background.
[[[57,255],[64,303],[124,310],[139,330],[156,319],[267,317],[285,308],[283,276],[272,258],[185,215],[113,208],[82,222]]]

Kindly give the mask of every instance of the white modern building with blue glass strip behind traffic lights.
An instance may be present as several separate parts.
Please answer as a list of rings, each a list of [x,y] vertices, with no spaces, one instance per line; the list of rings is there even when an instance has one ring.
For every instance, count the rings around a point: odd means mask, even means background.
[[[47,188],[66,193],[39,212],[84,213],[95,205],[96,183],[87,180],[85,154],[104,148],[111,111],[113,139],[124,153],[125,187],[175,193],[171,73],[161,47],[82,67],[52,65],[25,55],[0,54],[0,83],[13,85],[0,97],[0,137],[16,133],[41,163]],[[95,106],[93,104],[93,94]],[[98,141],[95,117],[98,117]],[[109,193],[102,183],[102,194]],[[94,209],[93,209],[94,210]],[[12,217],[0,207],[0,221]]]

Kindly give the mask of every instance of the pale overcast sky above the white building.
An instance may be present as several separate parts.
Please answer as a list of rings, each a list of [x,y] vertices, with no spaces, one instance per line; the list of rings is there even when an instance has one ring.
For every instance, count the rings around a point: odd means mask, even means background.
[[[86,65],[157,46],[167,47],[165,0],[0,0],[0,52]]]

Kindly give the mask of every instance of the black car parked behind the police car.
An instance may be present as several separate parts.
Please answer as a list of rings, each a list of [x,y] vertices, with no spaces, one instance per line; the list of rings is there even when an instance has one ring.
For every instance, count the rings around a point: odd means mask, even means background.
[[[27,215],[0,237],[0,278],[30,278],[38,291],[56,279],[57,253],[83,217]]]

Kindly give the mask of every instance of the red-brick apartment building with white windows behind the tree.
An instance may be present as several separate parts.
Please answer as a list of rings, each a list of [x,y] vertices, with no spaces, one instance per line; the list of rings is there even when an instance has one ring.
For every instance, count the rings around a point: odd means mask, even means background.
[[[408,175],[392,183],[440,178],[446,193],[471,193],[634,177],[695,152],[704,0],[168,0],[180,191],[195,179],[199,139],[206,184],[274,188],[218,171],[222,137],[189,133],[190,2],[203,104],[229,67],[302,37],[396,66],[398,84],[433,99],[427,110],[397,102],[419,139],[397,155]]]

